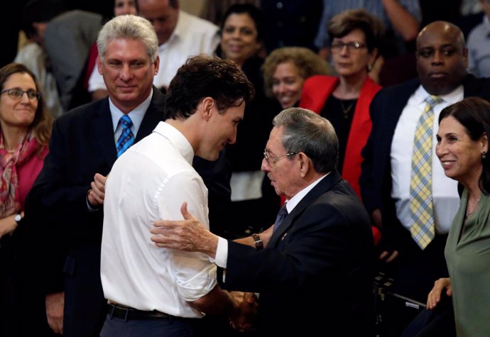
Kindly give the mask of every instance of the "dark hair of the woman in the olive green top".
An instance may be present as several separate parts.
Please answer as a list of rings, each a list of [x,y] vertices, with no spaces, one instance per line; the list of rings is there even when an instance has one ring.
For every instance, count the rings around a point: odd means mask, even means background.
[[[442,109],[439,123],[449,116],[454,117],[467,131],[472,140],[479,140],[486,133],[490,136],[490,103],[479,97],[467,97]],[[483,170],[479,187],[485,194],[490,192],[490,155],[481,158]]]

